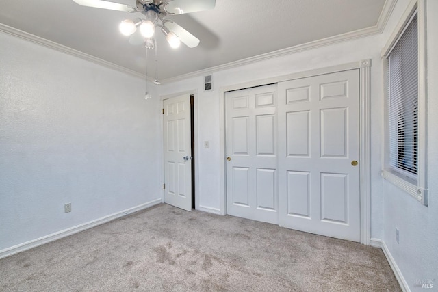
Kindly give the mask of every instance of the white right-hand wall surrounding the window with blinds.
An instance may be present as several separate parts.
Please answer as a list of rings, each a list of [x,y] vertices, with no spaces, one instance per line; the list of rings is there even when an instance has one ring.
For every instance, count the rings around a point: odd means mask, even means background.
[[[383,44],[409,0],[399,0],[384,31]],[[438,291],[438,1],[427,1],[428,42],[428,207],[383,181],[383,241],[411,291]],[[396,242],[396,228],[400,243]],[[433,289],[414,287],[415,280],[433,280]]]

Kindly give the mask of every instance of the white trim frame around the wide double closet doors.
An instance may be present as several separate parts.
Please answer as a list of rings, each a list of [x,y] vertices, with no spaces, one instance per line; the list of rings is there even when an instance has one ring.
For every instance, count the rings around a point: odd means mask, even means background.
[[[371,241],[371,181],[370,181],[370,67],[371,59],[363,59],[359,62],[341,64],[325,68],[318,68],[305,72],[292,73],[269,79],[261,79],[229,85],[219,88],[220,94],[220,213],[227,214],[227,181],[226,181],[226,140],[225,140],[225,93],[232,90],[242,90],[260,85],[268,85],[325,75],[334,72],[359,69],[359,202],[361,212],[361,244],[370,245]]]

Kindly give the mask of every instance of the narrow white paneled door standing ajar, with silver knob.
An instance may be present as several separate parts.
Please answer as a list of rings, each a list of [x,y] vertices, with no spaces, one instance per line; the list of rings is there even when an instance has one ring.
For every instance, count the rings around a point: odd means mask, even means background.
[[[163,101],[164,202],[192,210],[190,94]]]

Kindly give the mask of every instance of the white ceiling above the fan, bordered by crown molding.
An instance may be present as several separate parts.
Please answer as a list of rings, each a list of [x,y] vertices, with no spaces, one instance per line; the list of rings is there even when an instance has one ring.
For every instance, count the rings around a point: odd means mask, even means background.
[[[135,5],[135,0],[117,2]],[[181,44],[175,50],[159,34],[158,77],[166,80],[374,27],[384,4],[385,0],[216,0],[214,10],[168,17],[201,43],[194,49]],[[0,3],[0,23],[144,74],[144,47],[129,44],[118,31],[120,21],[141,16],[88,8],[72,0]],[[149,53],[150,77],[155,77],[153,62]]]

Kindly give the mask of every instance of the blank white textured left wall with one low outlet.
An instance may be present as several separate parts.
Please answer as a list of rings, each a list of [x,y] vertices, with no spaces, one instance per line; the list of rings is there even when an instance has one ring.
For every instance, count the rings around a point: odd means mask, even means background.
[[[0,44],[0,251],[161,198],[160,105],[142,79]]]

